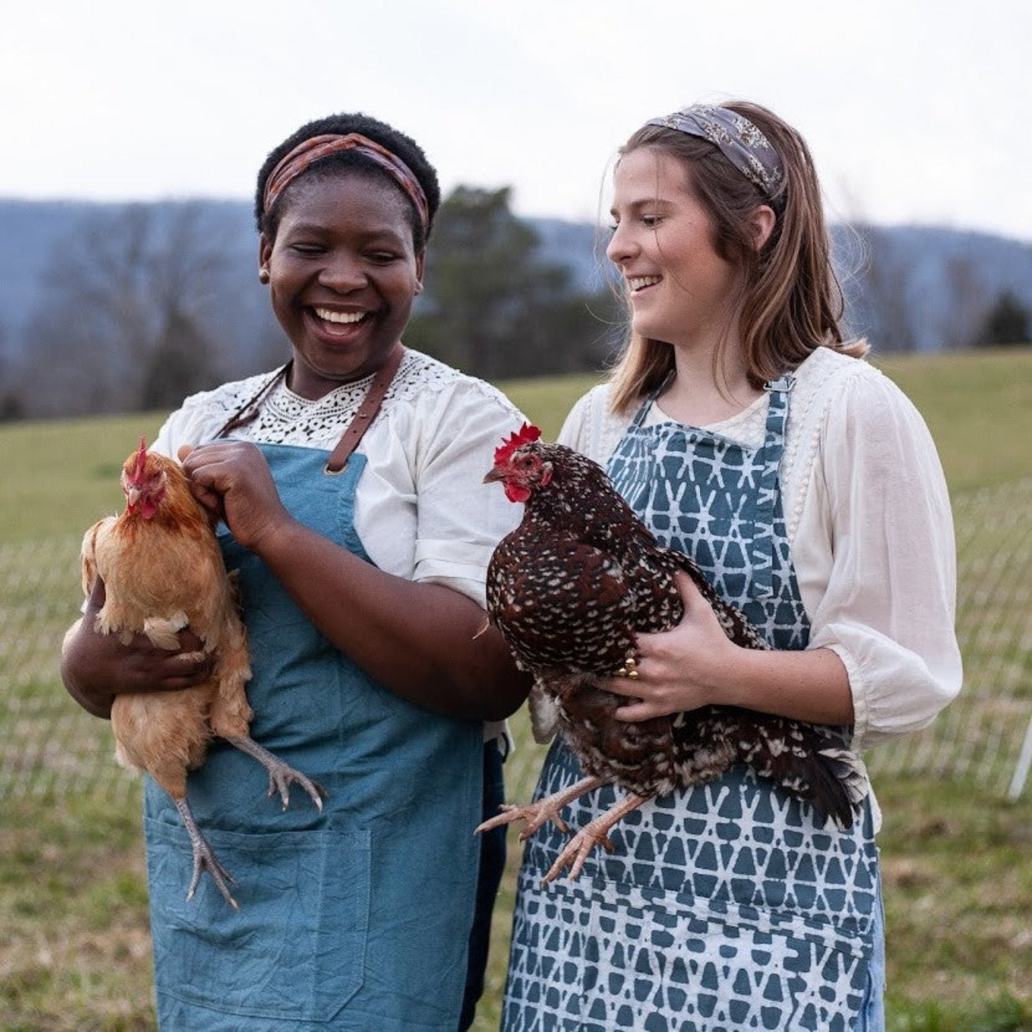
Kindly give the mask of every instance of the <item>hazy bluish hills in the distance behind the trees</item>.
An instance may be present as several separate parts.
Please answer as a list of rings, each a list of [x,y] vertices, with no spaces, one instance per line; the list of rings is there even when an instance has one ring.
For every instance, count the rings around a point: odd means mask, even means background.
[[[156,209],[180,202],[158,202]],[[248,201],[198,200],[217,227],[226,269],[220,337],[248,353],[270,332],[255,277],[257,236]],[[0,200],[0,355],[18,356],[34,313],[47,301],[47,270],[86,220],[125,205],[85,201]],[[567,265],[585,291],[605,285],[605,230],[560,219],[528,220],[541,257]],[[879,350],[965,347],[1004,291],[1032,311],[1032,244],[935,226],[833,227],[847,322]],[[429,260],[432,261],[432,243]]]

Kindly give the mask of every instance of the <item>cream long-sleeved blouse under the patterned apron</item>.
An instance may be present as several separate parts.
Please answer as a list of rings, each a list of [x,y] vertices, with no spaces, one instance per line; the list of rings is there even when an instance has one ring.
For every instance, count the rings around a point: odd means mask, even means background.
[[[767,395],[707,429],[763,442]],[[595,387],[559,440],[605,464],[633,413]],[[652,421],[667,417],[653,406]],[[956,551],[924,420],[869,363],[819,348],[796,372],[780,481],[810,648],[845,665],[858,749],[918,730],[956,697]]]

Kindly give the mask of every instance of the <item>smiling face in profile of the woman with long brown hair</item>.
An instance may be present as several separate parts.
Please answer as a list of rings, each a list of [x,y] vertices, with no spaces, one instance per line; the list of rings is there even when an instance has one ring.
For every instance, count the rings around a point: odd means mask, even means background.
[[[712,221],[679,159],[653,148],[624,154],[612,214],[606,254],[626,281],[636,332],[713,346],[734,329],[742,278],[717,253]]]

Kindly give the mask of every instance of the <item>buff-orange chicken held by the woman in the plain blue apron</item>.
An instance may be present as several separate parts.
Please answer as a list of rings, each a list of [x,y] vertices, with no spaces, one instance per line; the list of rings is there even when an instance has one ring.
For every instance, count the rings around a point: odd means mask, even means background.
[[[126,508],[95,523],[83,541],[83,588],[99,577],[105,588],[97,614],[100,634],[127,644],[144,634],[158,647],[179,649],[185,627],[214,656],[211,677],[181,691],[121,694],[111,706],[116,759],[149,773],[172,798],[193,849],[192,898],[207,871],[226,901],[237,907],[228,872],[200,833],[187,803],[187,772],[200,767],[213,736],[225,739],[268,771],[269,796],[284,808],[290,784],[300,784],[319,809],[323,789],[288,767],[249,735],[246,684],[251,677],[247,635],[234,585],[226,573],[209,517],[194,497],[178,462],[147,450],[144,441],[122,470]]]

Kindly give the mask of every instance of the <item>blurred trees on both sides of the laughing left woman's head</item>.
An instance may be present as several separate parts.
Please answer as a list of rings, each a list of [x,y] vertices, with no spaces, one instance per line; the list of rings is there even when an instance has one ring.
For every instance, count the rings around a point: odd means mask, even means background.
[[[18,353],[0,335],[0,418],[171,409],[282,364],[289,345],[238,227],[201,202],[86,215],[53,248]],[[620,325],[613,291],[546,259],[510,190],[445,199],[405,342],[485,379],[600,368]],[[2,327],[0,327],[2,333]]]

